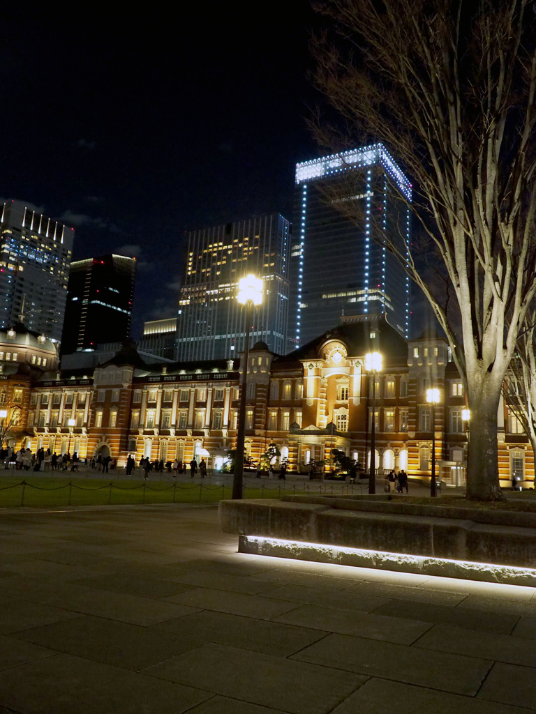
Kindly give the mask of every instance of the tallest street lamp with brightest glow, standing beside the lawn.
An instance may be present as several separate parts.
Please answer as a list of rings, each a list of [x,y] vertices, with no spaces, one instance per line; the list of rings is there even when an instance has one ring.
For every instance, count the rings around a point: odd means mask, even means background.
[[[240,386],[240,408],[238,413],[237,454],[234,457],[232,498],[242,498],[244,481],[244,444],[246,436],[247,366],[249,362],[249,331],[253,310],[262,303],[262,280],[248,275],[238,282],[238,301],[246,308],[246,339],[244,344],[244,371]]]

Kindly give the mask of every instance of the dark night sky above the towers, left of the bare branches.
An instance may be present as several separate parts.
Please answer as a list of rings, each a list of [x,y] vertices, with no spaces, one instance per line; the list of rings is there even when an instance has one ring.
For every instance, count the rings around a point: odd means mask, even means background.
[[[133,336],[176,313],[184,231],[279,211],[318,150],[308,0],[4,5],[0,196],[138,258]]]

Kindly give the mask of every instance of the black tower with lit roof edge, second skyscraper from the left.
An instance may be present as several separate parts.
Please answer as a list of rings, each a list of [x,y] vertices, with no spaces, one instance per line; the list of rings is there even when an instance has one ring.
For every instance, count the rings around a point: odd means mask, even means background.
[[[71,263],[61,353],[129,336],[136,258],[99,256]]]

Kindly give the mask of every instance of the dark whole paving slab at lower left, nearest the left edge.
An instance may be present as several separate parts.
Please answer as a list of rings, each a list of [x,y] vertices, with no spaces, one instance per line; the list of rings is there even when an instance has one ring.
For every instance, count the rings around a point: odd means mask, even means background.
[[[203,643],[201,638],[196,640],[195,635],[180,638],[171,631],[158,631],[91,616],[24,630],[11,637],[134,671],[182,654]]]

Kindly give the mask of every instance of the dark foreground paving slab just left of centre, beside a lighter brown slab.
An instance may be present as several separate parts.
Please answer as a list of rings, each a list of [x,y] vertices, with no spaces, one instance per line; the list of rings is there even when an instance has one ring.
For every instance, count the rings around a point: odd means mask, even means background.
[[[177,633],[185,641],[200,640],[199,643],[212,642],[282,657],[288,657],[327,635],[317,628],[312,629],[310,623],[305,627],[293,627],[210,610],[168,620],[154,625],[154,629]]]

